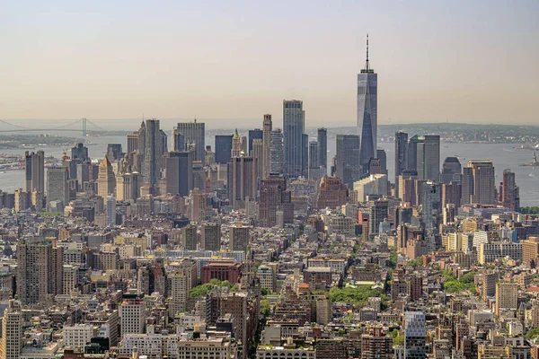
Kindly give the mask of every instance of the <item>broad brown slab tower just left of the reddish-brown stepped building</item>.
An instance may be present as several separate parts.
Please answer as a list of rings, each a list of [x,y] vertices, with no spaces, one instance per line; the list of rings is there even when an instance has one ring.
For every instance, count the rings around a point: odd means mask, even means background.
[[[233,157],[228,164],[228,199],[234,208],[244,208],[245,198],[257,197],[256,159]]]

